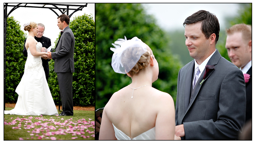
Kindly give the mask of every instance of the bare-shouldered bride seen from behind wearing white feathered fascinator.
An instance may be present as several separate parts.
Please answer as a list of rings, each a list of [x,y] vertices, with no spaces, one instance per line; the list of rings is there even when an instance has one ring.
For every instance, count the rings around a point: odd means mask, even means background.
[[[152,50],[137,37],[118,39],[112,45],[112,68],[131,77],[132,83],[115,92],[106,104],[99,140],[173,140],[174,101],[152,87],[159,74]]]

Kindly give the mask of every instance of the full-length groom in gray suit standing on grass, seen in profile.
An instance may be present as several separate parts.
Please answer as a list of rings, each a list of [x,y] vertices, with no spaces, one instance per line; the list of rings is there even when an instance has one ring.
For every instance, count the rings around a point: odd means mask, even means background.
[[[72,77],[73,72],[75,72],[75,37],[68,26],[68,15],[62,14],[57,19],[57,25],[62,31],[60,32],[60,38],[56,45],[56,51],[48,52],[47,57],[55,60],[54,72],[57,73],[58,77],[63,110],[59,116],[73,116]]]

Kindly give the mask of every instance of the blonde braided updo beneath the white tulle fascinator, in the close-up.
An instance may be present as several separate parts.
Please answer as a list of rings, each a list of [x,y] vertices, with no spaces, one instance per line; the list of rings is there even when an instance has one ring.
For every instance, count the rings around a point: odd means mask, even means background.
[[[137,53],[138,51],[134,51],[134,50],[137,50],[137,49],[142,49],[142,48],[140,48],[140,47],[130,47],[122,53],[122,64],[123,64],[124,68],[126,68],[127,63],[130,63],[131,61],[133,61],[131,59],[133,57],[131,57],[131,56],[138,55],[138,53]],[[147,45],[147,52],[145,52],[144,54],[141,55],[139,61],[136,63],[136,65],[128,73],[131,76],[133,76],[135,74],[138,74],[144,68],[146,68],[150,64],[150,56],[152,54],[153,53],[152,53],[150,47]]]

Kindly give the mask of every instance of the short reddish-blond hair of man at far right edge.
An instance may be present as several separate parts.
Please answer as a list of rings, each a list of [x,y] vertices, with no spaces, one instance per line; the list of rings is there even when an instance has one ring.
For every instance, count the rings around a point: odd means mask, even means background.
[[[242,37],[244,40],[252,40],[252,26],[246,24],[236,24],[231,26],[229,29],[226,29],[227,35],[242,32]]]

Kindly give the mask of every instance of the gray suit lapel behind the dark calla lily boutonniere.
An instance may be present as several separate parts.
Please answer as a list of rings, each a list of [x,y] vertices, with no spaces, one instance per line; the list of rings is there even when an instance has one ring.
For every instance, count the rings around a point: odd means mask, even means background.
[[[219,51],[216,50],[216,52],[212,55],[212,57],[211,57],[210,60],[208,61],[207,65],[217,65],[217,64],[218,64],[218,61],[220,60],[220,58],[221,58],[221,55],[220,55]],[[203,84],[205,83],[205,81],[207,80],[207,78],[212,74],[212,72],[213,72],[214,70],[215,70],[215,69],[211,70],[211,71],[208,73],[208,75],[207,75],[207,76],[205,77],[205,79],[204,79]],[[188,109],[186,110],[186,112],[189,110],[189,108],[190,108],[191,105],[193,104],[194,100],[196,99],[196,96],[197,96],[198,92],[200,91],[201,86],[203,85],[203,84],[200,85],[200,82],[202,82],[202,80],[203,80],[204,72],[205,72],[205,69],[204,69],[204,71],[202,72],[201,76],[199,77],[198,81],[196,82],[196,85],[195,85],[195,87],[194,87],[194,90],[193,90],[193,92],[191,93],[192,98],[191,98],[191,101],[190,101],[190,103],[189,103],[189,105],[188,105]]]

